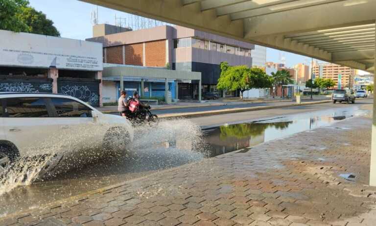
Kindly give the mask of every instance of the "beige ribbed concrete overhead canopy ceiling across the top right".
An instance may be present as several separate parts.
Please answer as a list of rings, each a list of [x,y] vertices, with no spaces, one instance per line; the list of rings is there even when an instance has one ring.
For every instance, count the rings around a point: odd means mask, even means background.
[[[372,72],[376,0],[83,0]]]

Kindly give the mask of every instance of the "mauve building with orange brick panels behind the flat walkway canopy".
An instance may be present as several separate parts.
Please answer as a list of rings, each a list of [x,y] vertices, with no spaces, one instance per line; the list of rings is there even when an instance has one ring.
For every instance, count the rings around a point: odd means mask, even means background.
[[[218,93],[220,63],[252,67],[253,44],[182,26],[157,26],[86,39],[103,44],[103,62],[200,72],[203,92]],[[127,78],[125,78],[127,79]],[[199,83],[177,80],[179,99],[198,99]],[[125,80],[125,85],[127,80]],[[227,92],[234,96],[236,92]]]

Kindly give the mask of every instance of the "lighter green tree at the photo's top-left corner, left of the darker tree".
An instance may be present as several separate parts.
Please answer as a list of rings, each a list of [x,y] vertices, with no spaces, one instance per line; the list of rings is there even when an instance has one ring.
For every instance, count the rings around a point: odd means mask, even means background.
[[[20,15],[28,3],[27,0],[0,0],[0,29],[27,32],[29,27]]]

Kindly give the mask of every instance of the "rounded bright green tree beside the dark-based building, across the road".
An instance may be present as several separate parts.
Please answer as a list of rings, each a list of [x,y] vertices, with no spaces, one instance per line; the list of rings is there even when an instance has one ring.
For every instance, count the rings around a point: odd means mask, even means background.
[[[230,66],[222,62],[221,75],[218,79],[219,90],[240,90],[240,99],[243,99],[243,92],[254,88],[270,87],[270,79],[265,72],[259,68],[249,68],[246,65]]]

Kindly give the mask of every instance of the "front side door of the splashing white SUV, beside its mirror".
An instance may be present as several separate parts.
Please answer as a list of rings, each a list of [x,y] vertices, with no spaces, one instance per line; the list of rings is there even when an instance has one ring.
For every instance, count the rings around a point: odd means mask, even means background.
[[[98,149],[105,131],[92,116],[92,108],[71,98],[49,98],[53,124],[60,131],[60,151]]]

